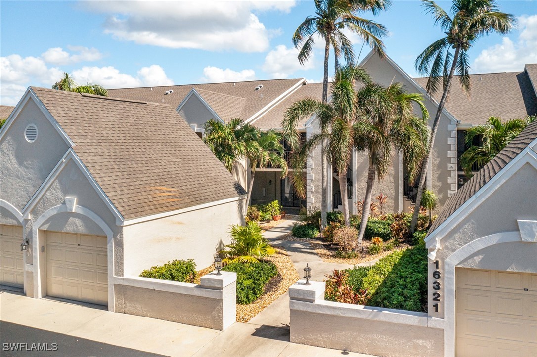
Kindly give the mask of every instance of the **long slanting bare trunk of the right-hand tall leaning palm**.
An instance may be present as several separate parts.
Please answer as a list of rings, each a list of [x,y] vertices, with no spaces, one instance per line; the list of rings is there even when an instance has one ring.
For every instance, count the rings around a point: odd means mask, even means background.
[[[447,95],[449,94],[449,89],[451,88],[451,82],[453,80],[453,74],[455,73],[457,60],[459,59],[460,50],[460,47],[457,47],[455,49],[453,63],[451,65],[451,71],[449,71],[449,77],[447,78],[446,88],[444,90],[444,93],[442,93],[442,98],[440,99],[440,103],[438,103],[437,114],[434,117],[433,127],[431,129],[431,138],[429,139],[429,152],[423,159],[422,173],[419,176],[418,194],[416,196],[416,205],[414,207],[414,213],[412,215],[412,223],[410,224],[410,233],[413,233],[416,230],[416,225],[418,224],[419,203],[422,202],[423,187],[425,186],[427,167],[429,166],[429,162],[431,161],[431,155],[433,152],[434,137],[436,136],[436,132],[438,130],[438,124],[440,123],[440,115],[442,114],[442,109],[444,109]],[[432,180],[432,177],[429,177],[429,180]]]

